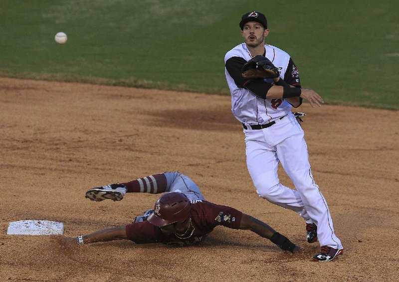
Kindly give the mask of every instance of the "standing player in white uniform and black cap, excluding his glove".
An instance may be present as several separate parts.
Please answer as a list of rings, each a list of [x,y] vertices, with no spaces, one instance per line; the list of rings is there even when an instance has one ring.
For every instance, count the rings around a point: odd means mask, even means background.
[[[311,89],[301,88],[298,70],[285,51],[265,44],[268,35],[264,14],[245,13],[239,23],[244,42],[224,56],[225,75],[231,93],[231,110],[242,123],[246,163],[259,197],[297,212],[306,221],[307,241],[319,240],[319,262],[333,260],[343,252],[335,235],[326,199],[321,194],[308,159],[304,132],[291,112],[302,99],[320,106],[323,99]],[[244,79],[243,65],[256,55],[267,57],[280,70],[273,79]],[[282,185],[278,164],[291,178],[296,190]]]

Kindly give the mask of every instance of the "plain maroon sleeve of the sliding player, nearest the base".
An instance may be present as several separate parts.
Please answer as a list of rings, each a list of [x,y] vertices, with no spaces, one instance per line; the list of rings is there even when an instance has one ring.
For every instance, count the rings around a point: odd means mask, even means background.
[[[148,221],[126,225],[126,235],[136,244],[156,243],[162,240],[161,230]]]

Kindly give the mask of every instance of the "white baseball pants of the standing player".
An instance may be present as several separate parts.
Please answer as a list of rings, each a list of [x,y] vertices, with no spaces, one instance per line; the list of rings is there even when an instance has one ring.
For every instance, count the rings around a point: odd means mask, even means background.
[[[247,167],[259,197],[297,212],[307,223],[315,223],[321,246],[341,249],[327,202],[312,176],[304,132],[293,114],[268,128],[248,128],[244,133]],[[280,183],[279,162],[296,190]]]

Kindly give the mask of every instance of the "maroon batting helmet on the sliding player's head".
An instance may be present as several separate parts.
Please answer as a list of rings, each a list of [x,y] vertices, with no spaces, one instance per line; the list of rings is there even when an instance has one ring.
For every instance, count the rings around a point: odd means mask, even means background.
[[[191,211],[190,200],[180,192],[169,192],[155,202],[154,213],[148,221],[155,226],[163,227],[175,222],[184,222]]]

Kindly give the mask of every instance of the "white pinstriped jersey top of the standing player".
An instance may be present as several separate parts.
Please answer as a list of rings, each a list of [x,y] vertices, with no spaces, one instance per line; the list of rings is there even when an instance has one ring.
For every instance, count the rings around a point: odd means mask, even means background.
[[[285,51],[265,44],[267,57],[280,70],[280,78],[300,87],[298,70]],[[265,124],[291,112],[291,104],[284,99],[265,99],[273,79],[248,81],[241,77],[242,65],[252,58],[245,43],[228,51],[224,56],[225,74],[231,93],[231,111],[244,124]],[[266,83],[265,83],[266,82]]]

